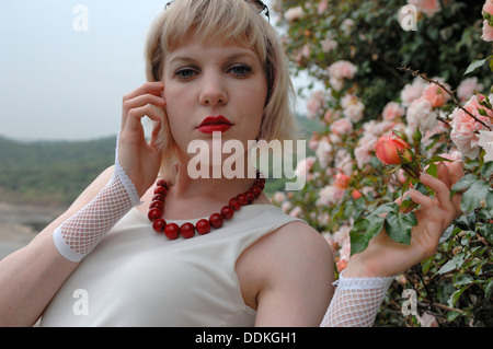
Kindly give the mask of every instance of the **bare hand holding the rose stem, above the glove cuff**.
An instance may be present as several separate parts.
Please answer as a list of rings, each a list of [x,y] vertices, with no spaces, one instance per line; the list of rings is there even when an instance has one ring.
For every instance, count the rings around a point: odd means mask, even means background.
[[[412,229],[411,244],[397,243],[381,231],[370,240],[365,251],[351,257],[344,276],[394,276],[434,255],[442,234],[460,216],[462,196],[456,194],[450,198],[450,189],[462,176],[462,165],[457,162],[448,166],[440,163],[437,178],[423,173],[420,181],[435,191],[435,197],[417,190],[409,191],[411,199],[421,206],[415,211],[417,225]],[[401,200],[397,203],[400,205]]]

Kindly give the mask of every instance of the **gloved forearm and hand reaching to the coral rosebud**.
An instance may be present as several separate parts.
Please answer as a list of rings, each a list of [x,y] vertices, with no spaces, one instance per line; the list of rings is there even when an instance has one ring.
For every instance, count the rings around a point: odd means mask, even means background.
[[[415,212],[417,225],[412,229],[411,244],[397,243],[381,231],[365,251],[353,255],[340,276],[321,326],[372,325],[393,276],[435,254],[442,234],[460,214],[461,195],[450,197],[450,189],[462,176],[459,163],[439,164],[437,178],[421,175],[421,182],[435,191],[435,197],[417,190],[409,193],[421,206]]]

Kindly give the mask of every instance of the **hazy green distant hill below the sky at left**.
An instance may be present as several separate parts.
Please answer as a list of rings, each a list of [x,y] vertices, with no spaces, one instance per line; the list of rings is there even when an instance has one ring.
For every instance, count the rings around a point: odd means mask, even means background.
[[[0,201],[67,206],[114,163],[116,137],[20,142],[0,137]]]

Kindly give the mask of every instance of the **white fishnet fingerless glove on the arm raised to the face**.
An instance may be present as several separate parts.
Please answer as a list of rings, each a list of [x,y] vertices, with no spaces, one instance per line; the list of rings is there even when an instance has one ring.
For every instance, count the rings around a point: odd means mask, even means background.
[[[55,246],[65,258],[79,263],[122,217],[138,205],[137,189],[119,164],[117,144],[112,179],[91,202],[55,230]]]

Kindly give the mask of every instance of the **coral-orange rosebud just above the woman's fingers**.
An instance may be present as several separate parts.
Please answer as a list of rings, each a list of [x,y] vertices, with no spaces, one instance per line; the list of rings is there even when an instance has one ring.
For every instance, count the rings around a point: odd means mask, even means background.
[[[411,147],[395,135],[386,135],[378,139],[375,146],[377,158],[386,165],[399,165],[403,162],[412,162]]]

